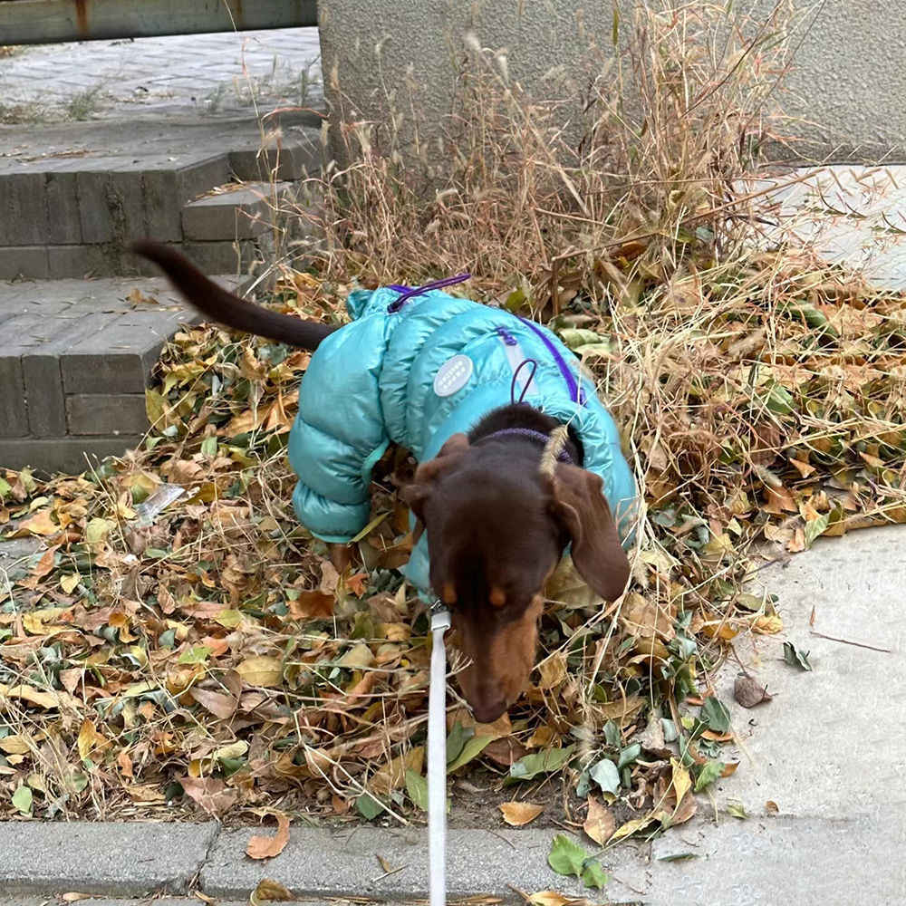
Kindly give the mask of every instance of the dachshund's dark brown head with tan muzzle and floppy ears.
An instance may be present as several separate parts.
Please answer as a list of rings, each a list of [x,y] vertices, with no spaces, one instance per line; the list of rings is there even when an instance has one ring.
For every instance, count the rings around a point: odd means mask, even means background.
[[[498,718],[525,689],[545,582],[565,545],[596,593],[622,593],[629,561],[601,487],[563,463],[542,475],[525,445],[473,446],[456,434],[404,489],[428,533],[431,587],[472,661],[459,683],[478,721]]]

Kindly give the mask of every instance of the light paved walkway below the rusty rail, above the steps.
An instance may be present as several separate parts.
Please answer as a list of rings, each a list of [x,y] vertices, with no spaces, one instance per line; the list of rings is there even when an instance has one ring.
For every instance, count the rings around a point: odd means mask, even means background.
[[[316,28],[16,48],[0,57],[0,122],[320,103],[320,55]]]

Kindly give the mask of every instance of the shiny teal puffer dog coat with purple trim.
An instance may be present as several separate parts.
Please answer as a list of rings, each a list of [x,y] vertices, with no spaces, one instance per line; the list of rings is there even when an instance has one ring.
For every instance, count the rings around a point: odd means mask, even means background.
[[[516,399],[575,429],[583,467],[602,477],[626,542],[635,483],[616,426],[553,333],[438,290],[405,300],[396,288],[362,290],[347,308],[352,323],[313,352],[289,438],[293,505],[313,535],[344,543],[367,525],[371,469],[391,442],[419,462],[433,458],[451,435],[508,404],[515,386]],[[520,367],[526,360],[536,367]],[[428,589],[424,535],[405,573]]]

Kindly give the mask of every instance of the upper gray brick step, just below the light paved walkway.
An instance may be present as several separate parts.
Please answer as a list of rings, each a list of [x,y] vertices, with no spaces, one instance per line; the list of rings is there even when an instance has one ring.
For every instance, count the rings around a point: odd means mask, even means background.
[[[147,122],[81,125],[36,128],[21,144],[21,132],[0,130],[0,279],[151,273],[127,251],[146,236],[185,244],[208,273],[239,272],[257,256],[243,242],[260,235],[258,207],[240,233],[235,213],[192,208],[189,234],[183,208],[234,179],[284,184],[322,162],[320,130],[307,121],[264,133],[254,120],[169,123],[163,135]],[[218,213],[226,226],[212,232]]]

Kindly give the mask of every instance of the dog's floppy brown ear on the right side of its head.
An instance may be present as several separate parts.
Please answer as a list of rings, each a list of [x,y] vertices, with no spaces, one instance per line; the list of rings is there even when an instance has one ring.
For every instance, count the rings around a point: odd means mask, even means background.
[[[558,463],[553,478],[554,515],[573,539],[573,564],[605,601],[616,601],[629,580],[629,559],[600,476]]]

